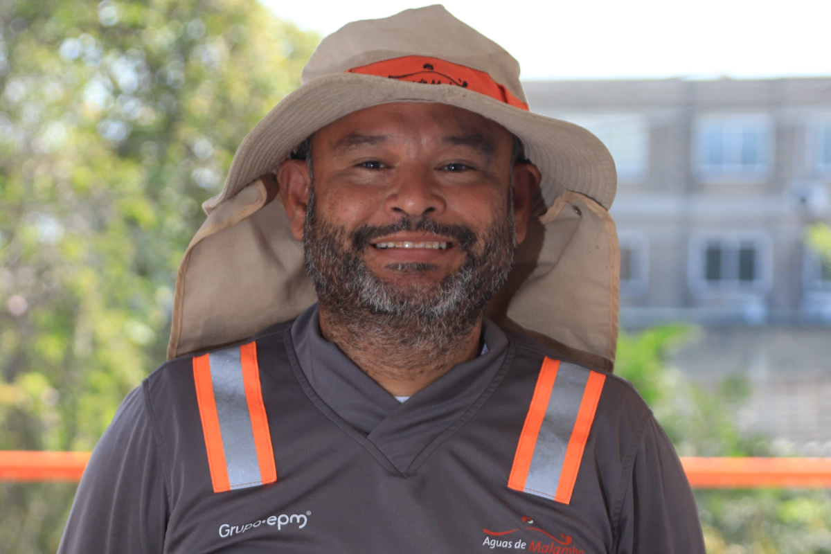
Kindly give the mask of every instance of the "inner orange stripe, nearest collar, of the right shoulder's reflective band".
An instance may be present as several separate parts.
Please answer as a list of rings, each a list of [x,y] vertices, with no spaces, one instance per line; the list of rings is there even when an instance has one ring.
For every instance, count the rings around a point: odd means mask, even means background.
[[[511,474],[508,478],[508,488],[517,491],[525,490],[525,481],[528,479],[531,459],[534,458],[534,447],[537,445],[539,428],[543,424],[545,411],[548,409],[548,400],[551,397],[554,380],[557,379],[559,366],[559,360],[549,358],[543,360],[543,367],[540,368],[537,377],[537,386],[534,388],[534,397],[531,399],[522,433],[519,434],[519,444],[517,444],[517,451],[514,455],[514,467],[511,468]]]

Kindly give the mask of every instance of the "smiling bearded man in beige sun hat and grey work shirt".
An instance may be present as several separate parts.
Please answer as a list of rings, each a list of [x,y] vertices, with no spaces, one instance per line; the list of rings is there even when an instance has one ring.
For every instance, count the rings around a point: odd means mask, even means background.
[[[516,61],[440,6],[343,27],[303,83],[205,204],[171,360],[60,552],[704,552],[611,373],[602,144],[530,113]]]

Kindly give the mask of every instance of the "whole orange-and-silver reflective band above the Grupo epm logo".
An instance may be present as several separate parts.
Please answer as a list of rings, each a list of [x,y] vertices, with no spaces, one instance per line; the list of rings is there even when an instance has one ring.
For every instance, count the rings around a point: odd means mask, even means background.
[[[194,357],[194,384],[214,493],[277,481],[257,343]]]

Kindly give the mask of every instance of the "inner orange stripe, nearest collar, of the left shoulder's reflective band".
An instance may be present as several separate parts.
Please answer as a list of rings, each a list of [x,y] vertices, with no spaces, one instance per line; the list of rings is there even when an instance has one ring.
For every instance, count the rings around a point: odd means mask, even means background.
[[[251,417],[251,429],[254,446],[257,449],[257,461],[263,484],[277,481],[277,468],[274,467],[274,451],[271,445],[271,433],[268,431],[268,418],[263,405],[263,391],[260,389],[259,365],[257,363],[257,343],[251,342],[239,347],[239,360],[243,366],[243,383],[245,400],[248,401],[248,414]]]

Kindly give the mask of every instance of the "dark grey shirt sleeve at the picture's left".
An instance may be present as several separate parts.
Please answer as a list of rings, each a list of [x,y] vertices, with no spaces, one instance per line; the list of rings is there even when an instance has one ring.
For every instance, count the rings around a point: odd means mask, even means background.
[[[160,554],[170,506],[166,474],[140,386],[92,452],[58,554]]]

